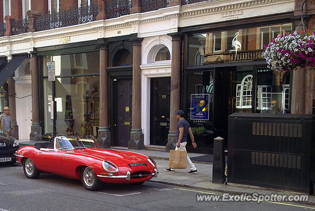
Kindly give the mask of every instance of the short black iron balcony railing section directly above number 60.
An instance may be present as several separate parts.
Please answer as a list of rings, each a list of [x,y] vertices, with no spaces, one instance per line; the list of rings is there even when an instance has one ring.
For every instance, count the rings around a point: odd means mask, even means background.
[[[131,0],[106,1],[106,19],[129,15],[131,6]]]

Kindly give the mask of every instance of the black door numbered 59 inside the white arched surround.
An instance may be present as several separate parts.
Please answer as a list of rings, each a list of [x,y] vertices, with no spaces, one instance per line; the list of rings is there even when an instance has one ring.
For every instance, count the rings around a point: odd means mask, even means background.
[[[165,146],[169,131],[171,78],[151,78],[150,144]]]

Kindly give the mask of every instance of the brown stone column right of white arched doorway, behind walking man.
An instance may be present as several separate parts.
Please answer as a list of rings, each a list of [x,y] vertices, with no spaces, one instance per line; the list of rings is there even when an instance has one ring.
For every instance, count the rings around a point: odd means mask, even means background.
[[[170,104],[170,126],[168,143],[165,151],[174,150],[176,147],[175,130],[177,125],[175,112],[180,110],[180,73],[181,73],[181,33],[169,34],[172,36],[172,73],[171,73],[171,104]]]

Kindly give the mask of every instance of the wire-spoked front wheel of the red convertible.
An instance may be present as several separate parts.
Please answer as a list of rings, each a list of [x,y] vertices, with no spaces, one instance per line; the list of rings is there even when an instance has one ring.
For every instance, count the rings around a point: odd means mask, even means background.
[[[101,181],[90,167],[81,169],[81,182],[88,190],[97,190],[101,186]]]

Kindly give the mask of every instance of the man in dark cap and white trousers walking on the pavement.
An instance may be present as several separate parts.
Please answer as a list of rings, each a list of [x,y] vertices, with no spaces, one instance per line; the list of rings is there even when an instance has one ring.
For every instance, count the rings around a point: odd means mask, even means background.
[[[177,126],[176,126],[176,134],[175,134],[175,138],[176,138],[176,142],[177,142],[177,146],[176,149],[180,148],[180,150],[182,151],[186,151],[186,144],[187,144],[187,134],[189,133],[190,135],[190,139],[192,142],[192,146],[194,148],[197,147],[197,144],[195,143],[191,128],[189,126],[189,122],[185,120],[184,118],[184,111],[182,110],[178,110],[176,113],[176,119],[178,120]],[[195,165],[191,162],[189,156],[187,155],[187,162],[190,168],[190,171],[187,172],[187,174],[194,174],[197,172],[197,169],[195,167]],[[170,169],[167,168],[165,169],[165,171],[168,172],[175,172],[174,169]]]

